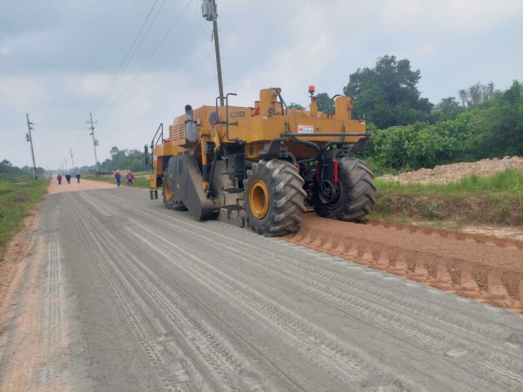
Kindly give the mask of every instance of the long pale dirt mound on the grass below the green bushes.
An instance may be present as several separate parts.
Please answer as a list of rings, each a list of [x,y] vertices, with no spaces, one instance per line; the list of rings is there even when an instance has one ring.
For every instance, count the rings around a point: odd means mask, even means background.
[[[517,168],[523,170],[523,157],[504,157],[503,159],[481,159],[478,162],[460,162],[458,164],[449,164],[436,166],[434,168],[420,168],[409,173],[398,175],[383,175],[382,180],[397,180],[401,184],[409,182],[421,182],[427,184],[435,182],[443,184],[446,182],[459,181],[467,175],[478,175],[485,177],[497,171],[503,171],[506,168]]]

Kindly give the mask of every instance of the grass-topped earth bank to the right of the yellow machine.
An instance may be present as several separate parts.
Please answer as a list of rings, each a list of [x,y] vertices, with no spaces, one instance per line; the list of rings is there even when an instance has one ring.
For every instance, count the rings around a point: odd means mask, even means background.
[[[523,171],[470,175],[448,184],[377,180],[372,219],[523,225]]]

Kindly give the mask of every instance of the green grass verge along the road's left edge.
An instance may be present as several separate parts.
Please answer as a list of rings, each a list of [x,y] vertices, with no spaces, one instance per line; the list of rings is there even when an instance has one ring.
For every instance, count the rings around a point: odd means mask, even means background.
[[[45,194],[49,180],[0,173],[0,258],[9,240],[23,228],[24,217]]]

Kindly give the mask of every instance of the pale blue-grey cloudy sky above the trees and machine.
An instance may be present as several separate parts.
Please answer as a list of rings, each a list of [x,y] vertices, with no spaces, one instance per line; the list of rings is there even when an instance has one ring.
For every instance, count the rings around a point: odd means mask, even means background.
[[[94,164],[90,112],[103,162],[112,146],[143,148],[185,104],[212,104],[212,24],[200,3],[0,0],[0,160],[32,166],[26,113],[37,166],[58,168],[65,157],[70,166],[70,148],[75,165]],[[279,86],[286,102],[306,105],[310,84],[341,93],[349,74],[386,54],[421,70],[418,88],[434,103],[476,81],[503,89],[523,80],[521,0],[217,3],[233,104]]]

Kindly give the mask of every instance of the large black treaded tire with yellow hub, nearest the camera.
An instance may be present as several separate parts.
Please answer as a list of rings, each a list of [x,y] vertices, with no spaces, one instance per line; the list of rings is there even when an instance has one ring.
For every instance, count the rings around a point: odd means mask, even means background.
[[[252,164],[252,169],[247,171],[247,180],[243,184],[243,208],[247,212],[248,226],[252,230],[269,237],[298,230],[301,214],[305,212],[303,201],[307,195],[303,190],[303,178],[296,166],[278,159],[261,160]],[[263,217],[260,217],[259,209],[257,210],[257,206],[253,204],[255,202],[250,200],[253,189],[257,189],[252,188],[253,185],[268,190],[268,197],[263,198],[263,203],[266,203],[266,212],[261,213]]]

